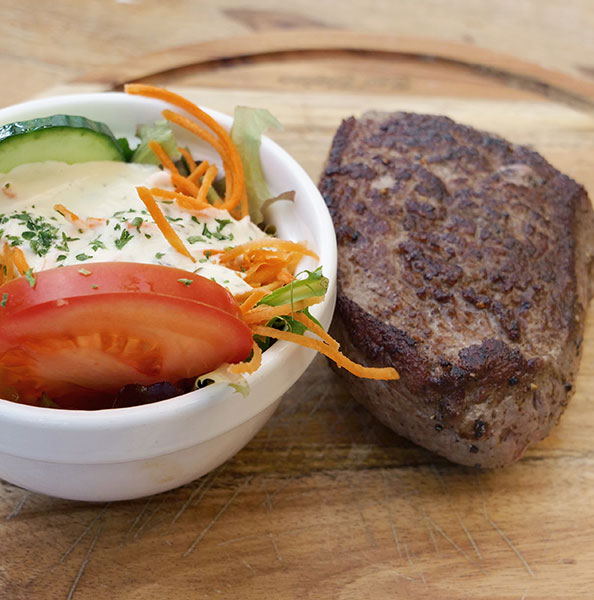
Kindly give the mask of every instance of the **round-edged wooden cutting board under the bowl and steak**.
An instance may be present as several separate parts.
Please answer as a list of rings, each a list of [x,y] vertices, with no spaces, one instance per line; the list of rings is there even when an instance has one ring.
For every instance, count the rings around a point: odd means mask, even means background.
[[[48,93],[167,85],[270,109],[317,180],[342,118],[447,114],[528,144],[594,197],[594,86],[475,47],[281,32],[141,57]],[[594,316],[594,315],[593,315]],[[187,486],[85,504],[0,484],[0,598],[594,597],[594,321],[561,423],[517,464],[392,434],[316,359],[237,456]]]

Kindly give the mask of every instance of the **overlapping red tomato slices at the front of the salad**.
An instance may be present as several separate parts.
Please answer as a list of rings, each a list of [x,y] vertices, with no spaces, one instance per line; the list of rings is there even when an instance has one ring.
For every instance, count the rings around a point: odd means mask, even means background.
[[[105,264],[104,280],[62,267],[39,273],[35,288],[24,278],[0,288],[0,397],[37,404],[47,394],[63,408],[108,408],[127,384],[177,382],[249,355],[251,331],[218,284],[185,271],[193,283],[179,283],[177,269],[172,279],[159,267],[162,279],[149,269],[132,285],[125,263]]]

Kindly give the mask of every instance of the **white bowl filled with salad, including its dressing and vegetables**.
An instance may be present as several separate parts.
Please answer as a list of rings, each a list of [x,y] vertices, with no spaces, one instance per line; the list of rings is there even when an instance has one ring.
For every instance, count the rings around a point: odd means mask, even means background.
[[[214,468],[321,352],[336,243],[263,131],[134,84],[0,111],[0,477],[66,498]]]

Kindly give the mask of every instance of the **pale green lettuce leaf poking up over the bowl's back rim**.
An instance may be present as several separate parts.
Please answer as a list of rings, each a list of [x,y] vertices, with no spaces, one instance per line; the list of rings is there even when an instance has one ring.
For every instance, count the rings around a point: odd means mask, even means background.
[[[231,139],[243,164],[250,218],[257,225],[264,220],[262,205],[272,197],[260,161],[262,134],[270,127],[281,129],[281,124],[266,109],[235,107]]]

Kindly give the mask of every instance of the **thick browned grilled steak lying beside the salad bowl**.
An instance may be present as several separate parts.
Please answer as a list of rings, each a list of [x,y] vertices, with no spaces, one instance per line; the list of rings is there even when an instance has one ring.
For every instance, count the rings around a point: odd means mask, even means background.
[[[384,424],[465,465],[544,438],[572,394],[590,298],[585,190],[539,154],[446,117],[339,128],[320,190],[339,247],[332,333],[399,381],[339,370]]]

